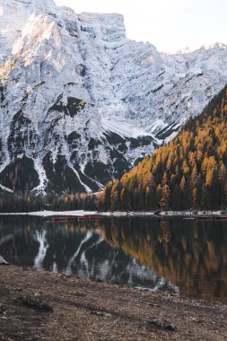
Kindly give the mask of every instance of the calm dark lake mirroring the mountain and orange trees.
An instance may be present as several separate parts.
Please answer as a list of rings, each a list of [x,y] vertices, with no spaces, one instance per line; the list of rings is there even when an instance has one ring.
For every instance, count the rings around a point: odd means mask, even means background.
[[[227,302],[226,221],[0,216],[0,256],[16,266]]]

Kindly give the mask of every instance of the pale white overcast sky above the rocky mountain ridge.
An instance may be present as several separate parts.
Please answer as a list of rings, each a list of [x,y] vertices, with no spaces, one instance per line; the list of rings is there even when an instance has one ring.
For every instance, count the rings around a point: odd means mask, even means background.
[[[121,13],[127,38],[159,51],[227,43],[226,0],[55,0],[75,13]]]

